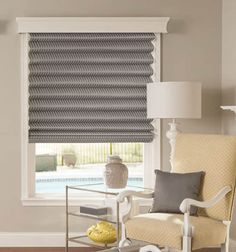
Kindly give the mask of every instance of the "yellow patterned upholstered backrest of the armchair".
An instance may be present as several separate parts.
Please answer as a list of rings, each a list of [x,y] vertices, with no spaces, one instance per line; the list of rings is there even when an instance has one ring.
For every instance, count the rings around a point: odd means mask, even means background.
[[[232,186],[232,193],[214,207],[198,211],[201,216],[218,220],[231,218],[236,177],[236,137],[178,134],[172,171],[205,171],[202,200],[213,197],[226,185]]]

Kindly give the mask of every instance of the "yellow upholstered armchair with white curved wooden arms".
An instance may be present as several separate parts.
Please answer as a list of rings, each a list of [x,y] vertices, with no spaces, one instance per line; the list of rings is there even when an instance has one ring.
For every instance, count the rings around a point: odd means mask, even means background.
[[[128,201],[127,212],[122,216],[121,245],[130,238],[183,252],[205,247],[221,247],[222,252],[228,252],[236,178],[236,137],[178,134],[172,172],[196,171],[205,172],[201,201],[184,199],[180,205],[183,214],[146,213],[131,217],[132,197],[153,198],[154,193],[120,193],[117,200]],[[197,216],[190,216],[191,205],[198,207]]]

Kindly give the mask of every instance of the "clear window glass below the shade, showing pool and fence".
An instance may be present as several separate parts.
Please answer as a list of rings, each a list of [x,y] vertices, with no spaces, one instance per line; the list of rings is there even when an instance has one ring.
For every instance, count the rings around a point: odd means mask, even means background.
[[[107,157],[119,155],[128,185],[143,185],[143,143],[40,143],[36,150],[36,193],[64,193],[65,185],[103,183]]]

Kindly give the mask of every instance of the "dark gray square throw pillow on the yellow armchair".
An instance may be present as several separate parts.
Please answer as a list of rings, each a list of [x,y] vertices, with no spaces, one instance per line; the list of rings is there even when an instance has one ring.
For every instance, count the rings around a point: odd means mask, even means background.
[[[152,213],[181,213],[180,204],[185,198],[198,200],[204,172],[170,173],[155,170],[156,185]],[[191,207],[191,215],[197,214],[197,207]]]

